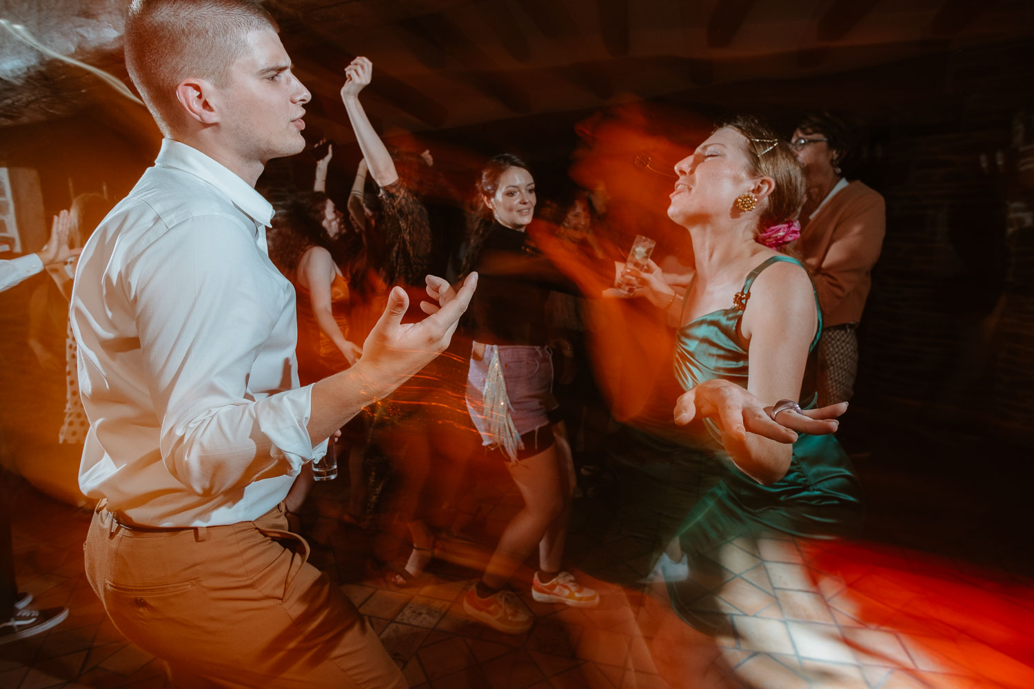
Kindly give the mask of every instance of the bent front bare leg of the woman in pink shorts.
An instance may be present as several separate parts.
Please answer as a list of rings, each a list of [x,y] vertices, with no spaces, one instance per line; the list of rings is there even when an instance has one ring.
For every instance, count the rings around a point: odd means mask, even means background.
[[[488,561],[482,581],[501,589],[564,511],[556,445],[509,466],[524,507],[510,521]]]

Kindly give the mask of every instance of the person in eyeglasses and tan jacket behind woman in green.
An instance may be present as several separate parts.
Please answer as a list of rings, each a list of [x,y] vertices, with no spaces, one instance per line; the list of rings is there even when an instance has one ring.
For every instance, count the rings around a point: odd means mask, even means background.
[[[816,370],[819,404],[847,402],[858,369],[855,331],[886,228],[883,196],[858,180],[847,181],[857,146],[840,118],[808,115],[790,143],[807,185],[797,250],[815,280],[824,321]]]

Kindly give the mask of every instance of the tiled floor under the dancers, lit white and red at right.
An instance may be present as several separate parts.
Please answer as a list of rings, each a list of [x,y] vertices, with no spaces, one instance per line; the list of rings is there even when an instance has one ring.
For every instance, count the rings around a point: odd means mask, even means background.
[[[82,542],[89,511],[20,483],[13,513],[21,588],[34,594],[35,605],[67,605],[71,615],[45,635],[0,647],[0,689],[166,686],[160,663],[121,637],[85,580]],[[332,511],[334,494],[317,493],[314,504]],[[512,511],[515,493],[484,486],[479,496],[488,514],[480,527],[491,534]],[[313,544],[313,562],[367,617],[410,686],[698,686],[689,680],[669,685],[658,675],[650,653],[658,621],[644,605],[649,587],[607,583],[634,581],[650,563],[650,545],[630,533],[620,518],[608,519],[610,511],[605,500],[578,501],[569,547],[570,559],[595,575],[590,581],[603,591],[603,604],[562,608],[536,603],[525,593],[522,598],[537,617],[531,631],[517,636],[463,615],[461,594],[476,575],[472,567],[484,557],[477,542],[443,539],[443,557],[420,585],[394,591],[366,565],[362,531],[320,518],[315,506],[303,531]],[[699,596],[691,607],[719,627],[714,643],[730,682],[771,689],[1034,686],[1034,681],[1023,684],[1023,678],[1034,675],[1016,654],[999,653],[998,667],[1018,665],[1011,674],[974,674],[966,659],[998,653],[996,645],[950,621],[926,628],[925,635],[905,626],[906,633],[901,620],[915,591],[881,588],[879,582],[863,586],[864,576],[878,575],[863,567],[851,568],[852,581],[813,567],[822,553],[815,543],[784,536],[741,538],[716,549],[708,566],[693,572]],[[860,591],[884,593],[873,600]],[[1004,604],[1005,599],[996,600]],[[1031,607],[1025,608],[1026,619]],[[946,652],[946,643],[954,654]]]

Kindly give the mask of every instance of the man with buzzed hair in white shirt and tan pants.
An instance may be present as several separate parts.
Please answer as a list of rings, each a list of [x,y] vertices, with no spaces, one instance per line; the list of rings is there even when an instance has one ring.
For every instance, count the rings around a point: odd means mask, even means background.
[[[253,185],[299,153],[309,92],[250,0],[136,0],[126,66],[165,138],[87,243],[72,291],[99,499],[86,571],[108,615],[183,687],[404,687],[374,631],[287,530],[302,467],[449,342],[388,307],[348,370],[298,386],[295,295]]]

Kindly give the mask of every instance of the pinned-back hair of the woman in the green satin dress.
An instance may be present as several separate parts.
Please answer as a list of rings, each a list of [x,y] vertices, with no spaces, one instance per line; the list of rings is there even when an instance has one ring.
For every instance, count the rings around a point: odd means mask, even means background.
[[[804,171],[790,145],[753,117],[737,117],[719,127],[725,128],[747,137],[751,175],[768,177],[776,183],[758,217],[757,231],[796,219],[804,205]]]

